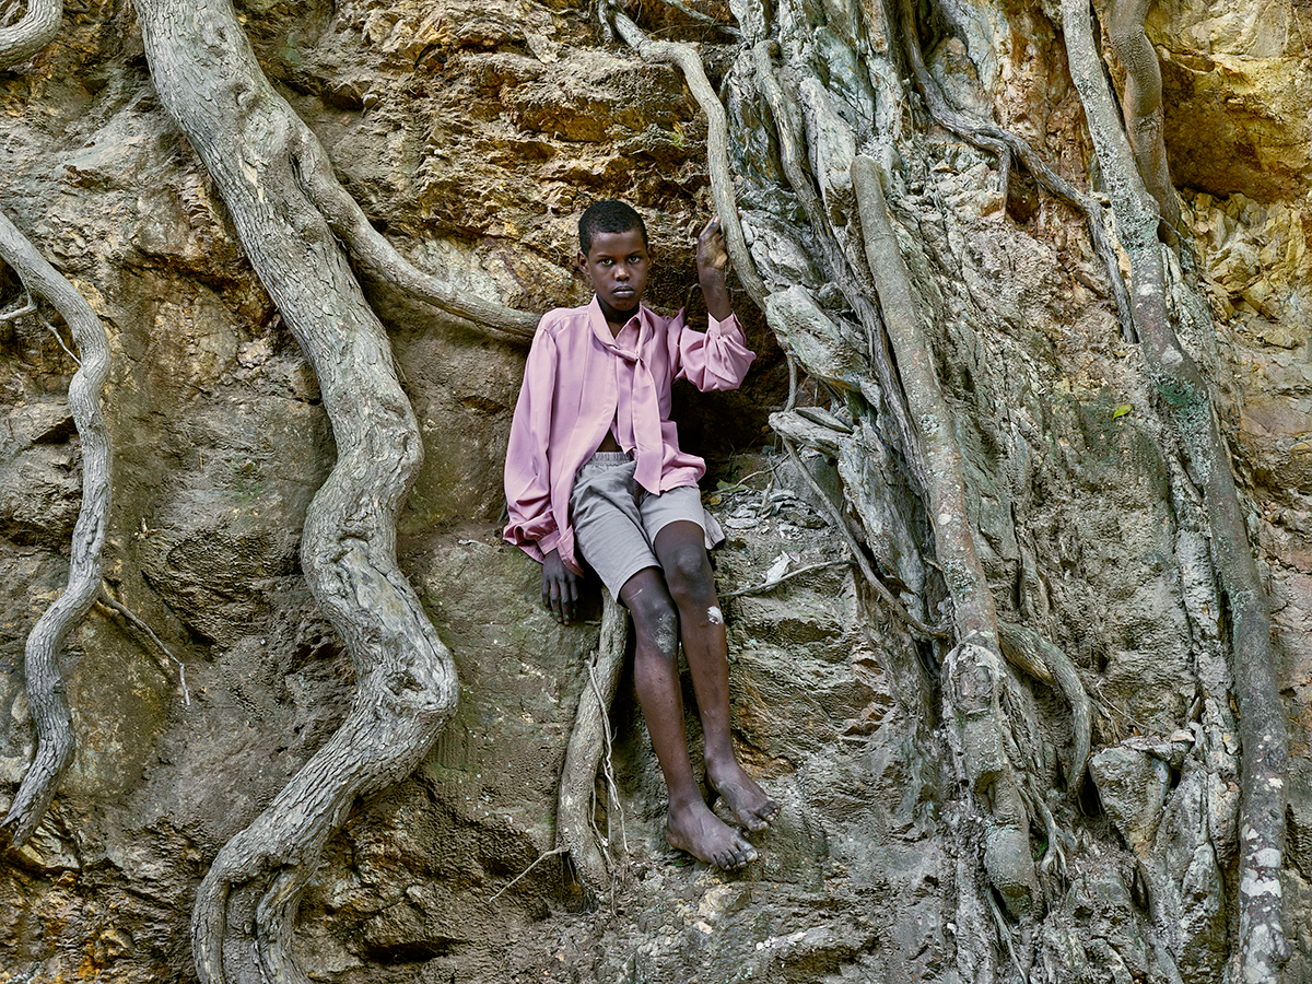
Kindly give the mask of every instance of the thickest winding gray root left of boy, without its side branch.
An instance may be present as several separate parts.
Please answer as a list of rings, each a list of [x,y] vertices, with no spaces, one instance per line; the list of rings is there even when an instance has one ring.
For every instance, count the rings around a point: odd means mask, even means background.
[[[252,266],[314,366],[337,445],[302,567],[357,690],[341,728],[215,858],[192,920],[205,984],[307,981],[291,950],[300,892],[357,796],[408,775],[455,707],[450,653],[396,565],[396,517],[422,461],[387,333],[306,190],[314,134],[269,85],[227,0],[139,0],[151,75],[205,161]],[[321,186],[320,186],[321,197]]]

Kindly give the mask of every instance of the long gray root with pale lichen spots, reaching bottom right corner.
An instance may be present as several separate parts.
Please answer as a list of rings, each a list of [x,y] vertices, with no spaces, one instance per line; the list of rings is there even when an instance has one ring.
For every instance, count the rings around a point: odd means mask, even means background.
[[[1144,362],[1202,487],[1214,563],[1229,606],[1242,744],[1237,979],[1275,980],[1288,956],[1281,917],[1288,747],[1273,665],[1270,605],[1253,559],[1207,384],[1172,327],[1162,247],[1157,240],[1157,209],[1140,181],[1134,154],[1117,118],[1089,28],[1088,8],[1078,0],[1063,0],[1061,13],[1071,73],[1111,197],[1118,235],[1130,256],[1131,293]]]

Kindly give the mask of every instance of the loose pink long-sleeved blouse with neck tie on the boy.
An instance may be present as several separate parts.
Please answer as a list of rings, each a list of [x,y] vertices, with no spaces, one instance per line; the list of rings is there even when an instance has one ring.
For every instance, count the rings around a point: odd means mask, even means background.
[[[505,457],[510,522],[505,538],[542,560],[552,550],[580,571],[569,525],[573,479],[607,430],[632,451],[638,482],[660,493],[697,485],[706,462],[678,449],[669,420],[670,384],[736,390],[756,358],[736,316],[706,332],[640,307],[613,337],[601,306],[543,315],[523,369]]]

